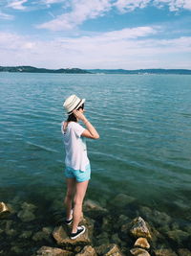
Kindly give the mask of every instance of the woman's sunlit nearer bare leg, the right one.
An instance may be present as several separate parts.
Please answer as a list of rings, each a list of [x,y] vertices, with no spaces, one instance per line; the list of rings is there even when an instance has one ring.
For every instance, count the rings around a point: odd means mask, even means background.
[[[85,197],[86,190],[88,187],[89,180],[83,182],[76,182],[76,191],[74,195],[74,221],[73,221],[73,229],[72,233],[77,231],[77,226],[80,221],[81,213],[82,213],[82,203],[83,198]]]

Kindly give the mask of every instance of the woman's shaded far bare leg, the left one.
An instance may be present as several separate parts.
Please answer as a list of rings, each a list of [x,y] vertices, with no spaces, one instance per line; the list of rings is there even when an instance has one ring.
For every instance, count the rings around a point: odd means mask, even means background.
[[[74,178],[67,178],[67,192],[66,197],[64,199],[64,203],[66,205],[66,220],[71,220],[71,210],[72,210],[72,202],[74,197],[75,191],[75,179]]]

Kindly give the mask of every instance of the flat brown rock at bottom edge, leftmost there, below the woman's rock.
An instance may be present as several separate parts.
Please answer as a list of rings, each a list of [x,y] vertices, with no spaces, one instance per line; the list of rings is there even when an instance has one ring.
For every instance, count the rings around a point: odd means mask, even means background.
[[[60,248],[53,248],[49,246],[42,246],[37,252],[36,256],[72,256],[73,252],[63,250]]]

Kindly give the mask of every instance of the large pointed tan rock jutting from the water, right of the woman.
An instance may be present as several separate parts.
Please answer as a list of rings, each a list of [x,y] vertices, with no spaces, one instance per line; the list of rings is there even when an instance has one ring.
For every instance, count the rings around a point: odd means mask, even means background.
[[[151,239],[151,233],[149,231],[149,228],[146,222],[141,217],[134,219],[131,222],[131,226],[132,227],[130,229],[130,233],[134,237],[136,238],[143,237],[143,238]]]

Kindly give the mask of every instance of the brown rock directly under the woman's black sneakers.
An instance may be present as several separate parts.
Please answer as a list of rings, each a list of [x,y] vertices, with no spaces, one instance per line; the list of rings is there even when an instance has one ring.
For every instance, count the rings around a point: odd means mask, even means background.
[[[72,240],[69,238],[67,232],[62,226],[57,226],[53,230],[53,238],[57,244],[68,249],[74,248],[75,246],[84,247],[85,245],[89,245],[91,243],[88,235],[88,229],[86,229],[84,234]]]

